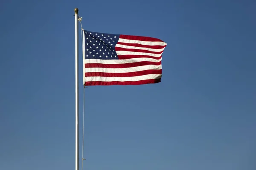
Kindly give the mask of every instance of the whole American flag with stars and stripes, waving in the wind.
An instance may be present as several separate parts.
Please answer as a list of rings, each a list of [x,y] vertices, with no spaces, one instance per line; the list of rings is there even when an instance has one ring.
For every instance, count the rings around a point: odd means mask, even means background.
[[[152,37],[83,30],[84,85],[161,82],[161,60],[166,45]]]

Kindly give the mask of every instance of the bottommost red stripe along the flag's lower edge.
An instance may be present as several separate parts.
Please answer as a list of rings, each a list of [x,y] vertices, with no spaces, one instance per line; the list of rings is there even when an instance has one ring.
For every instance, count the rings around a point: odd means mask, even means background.
[[[144,84],[153,84],[153,83],[158,83],[161,82],[161,79],[148,79],[148,80],[140,80],[136,82],[131,82],[131,81],[126,81],[126,82],[85,82],[84,85],[144,85]]]

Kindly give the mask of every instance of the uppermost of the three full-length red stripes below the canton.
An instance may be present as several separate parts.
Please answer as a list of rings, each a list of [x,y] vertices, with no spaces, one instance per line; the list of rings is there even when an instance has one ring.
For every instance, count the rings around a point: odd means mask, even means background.
[[[143,65],[161,65],[160,62],[142,61],[142,62],[131,62],[124,64],[102,64],[102,63],[87,63],[84,64],[85,68],[130,68],[138,67]]]

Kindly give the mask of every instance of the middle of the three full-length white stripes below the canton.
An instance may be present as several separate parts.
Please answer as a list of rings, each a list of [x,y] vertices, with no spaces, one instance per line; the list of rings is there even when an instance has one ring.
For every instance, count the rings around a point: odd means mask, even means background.
[[[144,70],[160,70],[162,65],[143,65],[138,67],[129,67],[129,68],[84,68],[84,73],[89,72],[103,72],[103,73],[130,73],[135,71],[144,71]]]

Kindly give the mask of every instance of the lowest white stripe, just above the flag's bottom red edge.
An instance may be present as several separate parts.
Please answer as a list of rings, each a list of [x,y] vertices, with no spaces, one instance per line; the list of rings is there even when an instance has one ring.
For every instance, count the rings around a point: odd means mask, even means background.
[[[162,77],[162,74],[147,74],[143,76],[135,76],[135,77],[85,77],[85,82],[90,81],[102,81],[102,82],[112,82],[112,81],[119,81],[119,82],[125,82],[125,81],[140,81],[140,80],[146,80],[146,79],[159,79]]]

